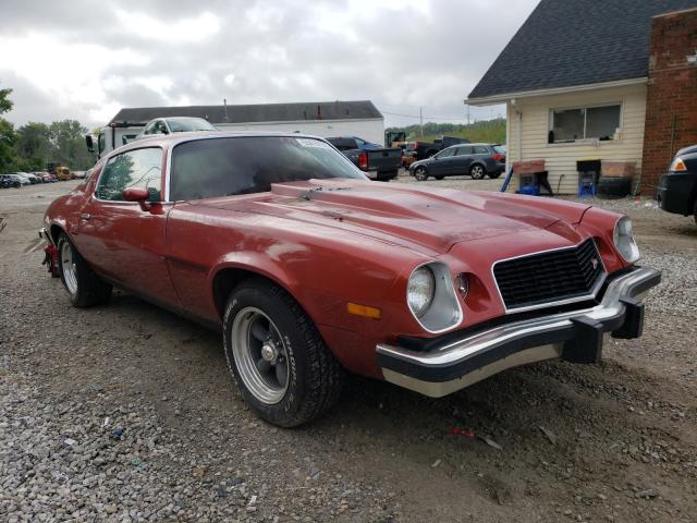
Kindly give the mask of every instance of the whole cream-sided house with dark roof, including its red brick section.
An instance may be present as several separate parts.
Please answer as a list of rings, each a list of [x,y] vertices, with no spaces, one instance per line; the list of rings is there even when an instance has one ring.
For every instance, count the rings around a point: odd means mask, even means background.
[[[465,102],[505,104],[508,160],[545,159],[555,192],[611,160],[650,196],[697,143],[696,56],[697,0],[541,0]]]

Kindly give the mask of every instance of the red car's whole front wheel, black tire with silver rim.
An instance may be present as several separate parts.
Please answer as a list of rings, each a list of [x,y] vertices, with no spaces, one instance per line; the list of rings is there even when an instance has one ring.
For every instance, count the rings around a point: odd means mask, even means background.
[[[295,427],[338,400],[344,370],[298,303],[261,279],[245,280],[223,318],[228,367],[244,401],[262,419]]]

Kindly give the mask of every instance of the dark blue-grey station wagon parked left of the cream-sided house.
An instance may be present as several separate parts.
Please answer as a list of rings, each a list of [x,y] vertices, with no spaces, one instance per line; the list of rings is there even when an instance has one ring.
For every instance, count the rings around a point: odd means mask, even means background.
[[[470,175],[481,180],[485,175],[499,178],[505,170],[505,149],[492,144],[453,145],[425,160],[409,166],[409,174],[419,182],[433,177]]]

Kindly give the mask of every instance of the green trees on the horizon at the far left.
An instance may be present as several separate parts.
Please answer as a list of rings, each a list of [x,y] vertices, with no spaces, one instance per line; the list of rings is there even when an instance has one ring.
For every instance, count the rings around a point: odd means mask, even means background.
[[[85,146],[87,129],[76,120],[28,122],[17,129],[2,118],[13,102],[12,89],[0,89],[0,173],[42,171],[49,161],[89,169],[95,158]]]

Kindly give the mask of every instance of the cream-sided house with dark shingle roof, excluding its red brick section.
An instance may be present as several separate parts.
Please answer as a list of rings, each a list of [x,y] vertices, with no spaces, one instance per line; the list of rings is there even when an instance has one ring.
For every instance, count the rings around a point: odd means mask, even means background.
[[[541,0],[465,102],[505,104],[508,161],[545,159],[554,192],[577,191],[578,160],[632,162],[638,185],[652,20],[695,7]]]

